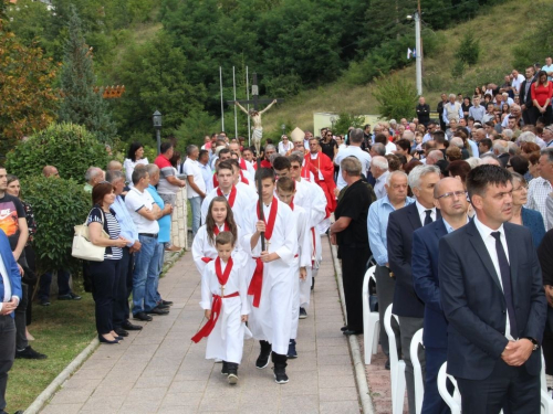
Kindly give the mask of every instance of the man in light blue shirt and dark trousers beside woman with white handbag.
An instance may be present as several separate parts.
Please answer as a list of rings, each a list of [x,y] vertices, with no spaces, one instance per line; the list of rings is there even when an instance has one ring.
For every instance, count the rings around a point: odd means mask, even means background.
[[[142,326],[133,325],[129,321],[131,309],[128,298],[133,291],[133,267],[135,253],[140,250],[138,231],[128,212],[125,200],[123,199],[123,189],[125,188],[125,174],[122,171],[107,171],[106,180],[113,185],[115,191],[115,201],[112,204],[115,211],[115,219],[119,223],[121,235],[128,240],[128,244],[123,248],[123,258],[119,262],[122,277],[116,289],[113,306],[113,326],[114,331],[119,337],[127,337],[129,330],[140,330]]]

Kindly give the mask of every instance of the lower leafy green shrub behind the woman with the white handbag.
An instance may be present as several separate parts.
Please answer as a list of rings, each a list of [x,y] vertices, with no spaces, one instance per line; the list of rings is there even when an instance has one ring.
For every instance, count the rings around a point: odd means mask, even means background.
[[[25,177],[21,187],[36,220],[34,250],[39,274],[59,268],[79,270],[80,261],[71,256],[73,226],[86,220],[91,194],[83,191],[81,183],[63,178]]]

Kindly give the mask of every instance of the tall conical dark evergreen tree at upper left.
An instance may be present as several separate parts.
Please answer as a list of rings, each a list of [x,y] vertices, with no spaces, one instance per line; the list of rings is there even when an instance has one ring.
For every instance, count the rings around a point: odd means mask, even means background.
[[[72,9],[69,31],[61,73],[63,100],[59,113],[60,120],[84,125],[101,141],[108,142],[115,137],[115,124],[102,93],[94,92],[96,76],[92,52],[84,42],[81,19],[75,8]]]

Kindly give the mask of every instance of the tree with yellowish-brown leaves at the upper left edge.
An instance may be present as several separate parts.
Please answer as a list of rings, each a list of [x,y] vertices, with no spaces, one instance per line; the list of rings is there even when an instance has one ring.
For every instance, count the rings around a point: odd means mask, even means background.
[[[3,3],[1,3],[3,6]],[[56,66],[36,45],[22,45],[0,10],[0,155],[55,119]]]

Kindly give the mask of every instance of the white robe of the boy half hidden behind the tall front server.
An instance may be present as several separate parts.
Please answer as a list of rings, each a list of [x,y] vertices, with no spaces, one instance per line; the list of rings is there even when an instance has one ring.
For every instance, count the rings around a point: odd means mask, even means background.
[[[309,270],[311,269],[311,242],[310,242],[310,226],[309,226],[309,214],[300,205],[294,205],[293,214],[295,216],[295,222],[298,225],[298,257],[294,258],[296,262],[298,270],[296,277],[294,279],[294,293],[292,301],[292,329],[290,333],[290,339],[298,338],[298,323],[300,321],[300,267],[305,267],[307,269],[307,278],[310,277]],[[303,282],[304,283],[304,282]]]

